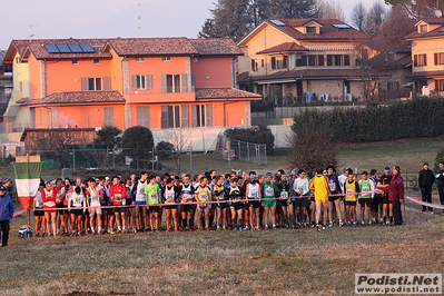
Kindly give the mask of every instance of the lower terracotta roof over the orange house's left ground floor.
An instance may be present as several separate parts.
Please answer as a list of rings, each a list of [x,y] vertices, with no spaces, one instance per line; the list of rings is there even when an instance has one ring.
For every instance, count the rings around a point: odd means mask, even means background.
[[[41,99],[27,100],[23,106],[47,103],[125,102],[118,91],[63,91]]]

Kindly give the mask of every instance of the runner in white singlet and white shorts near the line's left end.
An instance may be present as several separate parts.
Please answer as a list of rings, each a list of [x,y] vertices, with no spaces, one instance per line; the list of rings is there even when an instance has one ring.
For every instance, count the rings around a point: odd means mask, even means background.
[[[88,188],[86,190],[87,206],[89,213],[89,224],[92,235],[96,235],[96,229],[98,234],[101,234],[101,204],[100,200],[103,199],[103,190],[100,186],[96,185],[96,180],[92,178],[88,179]],[[95,225],[97,228],[95,228]]]

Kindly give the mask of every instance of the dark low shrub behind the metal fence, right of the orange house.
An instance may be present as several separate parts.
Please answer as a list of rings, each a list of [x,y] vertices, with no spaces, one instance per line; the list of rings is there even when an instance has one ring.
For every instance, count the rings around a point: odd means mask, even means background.
[[[225,137],[245,142],[265,144],[267,147],[267,155],[273,154],[275,148],[275,136],[273,136],[272,130],[266,126],[230,128],[225,131]]]

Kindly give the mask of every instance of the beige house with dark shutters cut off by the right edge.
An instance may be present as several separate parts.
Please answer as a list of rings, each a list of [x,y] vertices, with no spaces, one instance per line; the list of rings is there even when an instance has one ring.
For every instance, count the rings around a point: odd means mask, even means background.
[[[444,18],[418,21],[416,31],[404,39],[412,42],[413,92],[418,96],[444,93]]]

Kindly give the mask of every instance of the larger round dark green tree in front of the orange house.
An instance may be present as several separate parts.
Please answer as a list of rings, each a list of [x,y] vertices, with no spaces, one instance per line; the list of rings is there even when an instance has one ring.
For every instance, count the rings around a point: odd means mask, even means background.
[[[125,130],[122,139],[122,148],[126,155],[136,161],[136,168],[142,159],[148,159],[148,155],[154,148],[155,140],[152,132],[147,127],[136,126]]]

